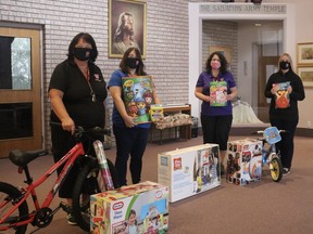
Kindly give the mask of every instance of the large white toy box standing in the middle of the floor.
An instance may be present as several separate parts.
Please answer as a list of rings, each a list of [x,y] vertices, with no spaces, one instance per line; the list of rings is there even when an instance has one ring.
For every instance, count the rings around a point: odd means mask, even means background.
[[[170,203],[221,185],[220,147],[203,144],[158,155],[158,182],[170,188]]]

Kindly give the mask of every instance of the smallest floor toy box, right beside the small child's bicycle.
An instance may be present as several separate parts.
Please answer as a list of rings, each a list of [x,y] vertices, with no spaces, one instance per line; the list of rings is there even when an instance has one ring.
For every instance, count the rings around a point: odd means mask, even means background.
[[[262,176],[262,141],[243,139],[227,143],[226,181],[246,185]]]

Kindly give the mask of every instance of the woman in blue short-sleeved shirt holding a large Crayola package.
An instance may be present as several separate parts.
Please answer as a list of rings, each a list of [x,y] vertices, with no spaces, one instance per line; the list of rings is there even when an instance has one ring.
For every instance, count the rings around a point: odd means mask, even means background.
[[[137,125],[134,117],[127,115],[122,93],[122,78],[146,76],[145,65],[138,49],[129,48],[123,55],[120,69],[113,72],[108,88],[112,94],[114,106],[112,114],[113,132],[116,142],[115,168],[120,185],[126,185],[127,161],[130,156],[130,174],[133,184],[141,179],[142,155],[146,151],[150,123]],[[159,103],[153,86],[153,98]]]

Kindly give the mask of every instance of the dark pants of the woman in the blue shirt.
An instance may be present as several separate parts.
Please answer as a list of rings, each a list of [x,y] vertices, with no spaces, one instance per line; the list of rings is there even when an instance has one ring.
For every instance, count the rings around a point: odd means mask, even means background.
[[[126,128],[113,125],[116,141],[115,168],[118,173],[120,185],[126,185],[127,161],[130,156],[130,174],[133,184],[139,183],[141,179],[142,156],[149,138],[147,128]]]

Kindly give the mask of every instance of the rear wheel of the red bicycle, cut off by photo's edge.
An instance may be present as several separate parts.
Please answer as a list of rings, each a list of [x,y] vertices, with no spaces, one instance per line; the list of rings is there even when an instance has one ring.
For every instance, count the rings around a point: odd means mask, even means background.
[[[22,197],[22,193],[11,184],[0,182],[0,219],[9,212],[14,205],[18,202],[18,198]],[[0,223],[0,233],[3,231],[5,234],[15,233],[24,234],[27,229],[27,224],[8,229],[10,225],[23,221],[28,217],[28,206],[24,202],[21,204],[18,209],[16,209],[3,223]]]

